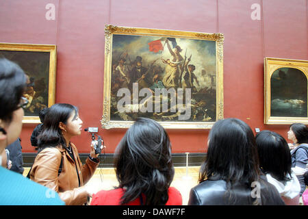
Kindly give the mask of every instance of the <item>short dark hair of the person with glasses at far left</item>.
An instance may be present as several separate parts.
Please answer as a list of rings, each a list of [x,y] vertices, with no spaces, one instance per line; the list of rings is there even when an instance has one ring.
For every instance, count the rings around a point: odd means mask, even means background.
[[[0,119],[10,122],[25,91],[25,73],[14,62],[0,58]]]

